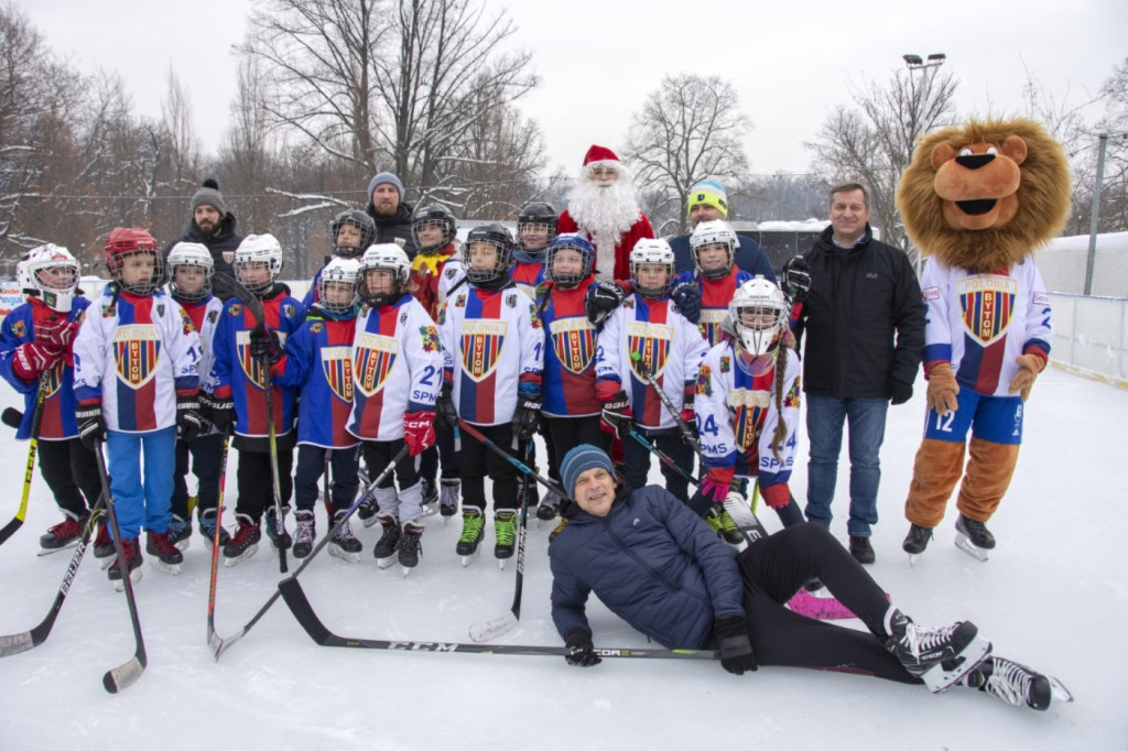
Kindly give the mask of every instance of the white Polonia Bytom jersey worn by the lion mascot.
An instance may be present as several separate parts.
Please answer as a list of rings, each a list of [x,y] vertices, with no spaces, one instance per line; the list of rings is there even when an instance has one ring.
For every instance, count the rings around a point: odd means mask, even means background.
[[[955,380],[988,396],[1008,392],[1015,359],[1050,353],[1050,299],[1033,259],[972,274],[929,258],[920,276],[926,306],[924,366],[951,362]]]

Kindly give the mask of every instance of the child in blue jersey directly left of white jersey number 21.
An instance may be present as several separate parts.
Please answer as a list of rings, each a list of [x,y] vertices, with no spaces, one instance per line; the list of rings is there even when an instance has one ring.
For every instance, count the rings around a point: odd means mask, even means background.
[[[306,323],[285,343],[285,355],[271,366],[271,380],[301,389],[298,406],[298,469],[294,501],[298,523],[293,557],[305,558],[314,548],[317,528],[314,506],[326,454],[333,484],[329,519],[344,520],[356,495],[360,442],[349,433],[352,412],[352,341],[356,329],[356,280],[360,262],[333,258],[321,270],[317,299],[306,311]],[[356,563],[362,549],[347,521],[329,541],[329,555]]]

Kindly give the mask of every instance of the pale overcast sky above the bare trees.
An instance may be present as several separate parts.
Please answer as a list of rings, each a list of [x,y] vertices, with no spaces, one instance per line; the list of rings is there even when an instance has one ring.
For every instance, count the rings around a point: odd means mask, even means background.
[[[807,171],[804,141],[851,87],[885,81],[901,55],[943,52],[961,114],[1016,114],[1029,74],[1058,98],[1096,96],[1128,58],[1125,0],[831,2],[541,2],[506,8],[540,86],[521,103],[553,165],[579,167],[591,143],[619,149],[633,113],[668,73],[730,79],[752,122],[754,173]],[[192,100],[205,151],[223,138],[253,0],[16,0],[56,53],[120,72],[136,112],[159,116],[171,65]],[[627,8],[645,8],[632,11]],[[1091,117],[1101,108],[1091,107]]]

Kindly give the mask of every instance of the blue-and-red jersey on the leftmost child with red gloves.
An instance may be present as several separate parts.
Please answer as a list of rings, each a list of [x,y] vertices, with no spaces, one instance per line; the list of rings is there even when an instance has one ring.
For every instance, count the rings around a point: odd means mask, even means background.
[[[35,341],[35,329],[44,321],[56,316],[68,321],[79,320],[90,301],[82,297],[74,298],[69,313],[55,312],[37,298],[27,298],[27,302],[16,306],[5,316],[0,324],[0,376],[11,383],[18,394],[24,395],[24,418],[16,431],[18,440],[32,435],[32,423],[35,422],[35,401],[38,398],[39,381],[25,381],[11,370],[11,359],[16,348]],[[74,419],[74,366],[73,357],[65,356],[47,376],[46,392],[43,396],[43,415],[39,418],[39,441],[65,441],[78,435],[78,422]]]

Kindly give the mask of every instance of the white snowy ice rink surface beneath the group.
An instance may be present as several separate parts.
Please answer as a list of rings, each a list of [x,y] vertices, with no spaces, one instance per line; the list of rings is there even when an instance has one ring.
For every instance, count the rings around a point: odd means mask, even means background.
[[[922,381],[908,406],[890,412],[872,572],[917,620],[975,620],[997,653],[1058,675],[1077,697],[1072,705],[1039,714],[961,688],[931,696],[875,679],[778,668],[738,678],[707,662],[607,660],[580,670],[561,657],[332,650],[316,646],[282,602],[215,663],[205,643],[210,557],[194,537],[178,577],[143,569],[136,592],[149,669],[117,696],[106,693],[100,678],[132,654],[129,616],[123,595],[87,556],[46,643],[0,660],[0,749],[98,750],[123,742],[310,751],[1125,749],[1128,573],[1120,542],[1128,528],[1128,392],[1047,371],[1028,406],[1017,476],[992,523],[999,539],[993,559],[979,564],[952,545],[953,509],[910,568],[900,550],[901,504],[923,388]],[[14,404],[3,389],[0,407]],[[3,435],[0,476],[9,479],[0,523],[19,503],[26,459],[26,443]],[[233,468],[232,456],[229,488]],[[846,480],[841,471],[839,513]],[[805,469],[792,487],[802,498]],[[774,514],[763,515],[770,529],[778,525]],[[56,521],[36,474],[27,522],[0,547],[0,634],[26,630],[46,613],[70,551],[35,553],[38,534]],[[318,525],[326,529],[320,513]],[[377,569],[372,529],[359,532],[361,564],[323,554],[302,582],[337,634],[468,640],[470,624],[509,608],[513,571],[500,572],[488,550],[461,568],[453,553],[458,529],[429,520],[423,562],[408,578],[398,567]],[[845,539],[843,520],[832,529]],[[559,644],[548,616],[548,531],[530,522],[522,619],[501,640]],[[221,568],[219,633],[243,627],[277,578],[277,559],[265,545],[243,565]],[[591,613],[598,645],[645,645],[598,602]]]

